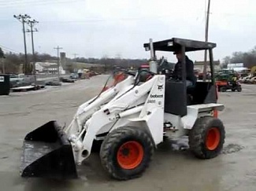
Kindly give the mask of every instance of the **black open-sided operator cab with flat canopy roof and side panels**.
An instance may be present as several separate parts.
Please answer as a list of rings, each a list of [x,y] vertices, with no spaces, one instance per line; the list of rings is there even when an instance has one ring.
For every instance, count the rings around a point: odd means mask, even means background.
[[[159,42],[152,42],[150,39],[150,43],[145,43],[143,46],[146,51],[150,50],[151,61],[156,61],[156,51],[175,52],[179,49],[184,58],[186,52],[199,50],[209,51],[210,79],[198,80],[195,77],[195,83],[191,86],[186,86],[185,59],[182,61],[182,79],[172,79],[172,76],[166,76],[165,112],[185,116],[187,115],[187,105],[217,103],[213,68],[213,48],[216,47],[215,43],[173,38]]]

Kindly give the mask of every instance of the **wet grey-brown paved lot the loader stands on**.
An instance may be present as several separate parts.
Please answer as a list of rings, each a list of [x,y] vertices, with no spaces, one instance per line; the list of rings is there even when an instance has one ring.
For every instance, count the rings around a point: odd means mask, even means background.
[[[167,142],[154,155],[141,178],[118,182],[102,171],[98,155],[80,167],[80,179],[59,182],[20,178],[24,135],[49,120],[69,123],[76,108],[98,94],[106,76],[95,76],[72,85],[0,97],[1,190],[256,190],[256,86],[243,92],[220,94],[226,106],[220,118],[226,127],[221,156],[198,160],[189,151],[175,151]]]

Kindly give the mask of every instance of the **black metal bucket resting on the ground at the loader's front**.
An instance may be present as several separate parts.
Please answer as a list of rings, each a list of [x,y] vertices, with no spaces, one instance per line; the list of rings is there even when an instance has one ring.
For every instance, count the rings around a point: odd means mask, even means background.
[[[23,149],[22,177],[77,178],[72,145],[55,121],[27,134]]]

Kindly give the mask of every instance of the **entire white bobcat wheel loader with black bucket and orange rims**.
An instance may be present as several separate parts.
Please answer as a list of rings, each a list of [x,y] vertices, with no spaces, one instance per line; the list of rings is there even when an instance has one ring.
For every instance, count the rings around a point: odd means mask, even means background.
[[[77,167],[90,157],[95,141],[101,141],[99,156],[103,169],[118,180],[138,178],[165,136],[187,136],[190,150],[199,159],[218,156],[224,145],[225,130],[218,111],[214,79],[212,42],[167,39],[147,42],[149,70],[125,73],[118,83],[103,88],[97,96],[77,109],[69,126],[50,121],[24,138],[20,175],[22,177],[78,178]],[[207,50],[211,80],[186,86],[186,64],[182,78],[158,73],[156,51],[182,55]],[[150,77],[143,82],[140,72]]]

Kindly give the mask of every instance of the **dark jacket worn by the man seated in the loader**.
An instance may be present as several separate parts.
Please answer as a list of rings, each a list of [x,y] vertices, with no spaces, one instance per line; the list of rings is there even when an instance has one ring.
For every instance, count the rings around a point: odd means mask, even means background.
[[[195,83],[195,74],[194,74],[194,64],[193,61],[189,60],[189,58],[186,56],[186,79]],[[174,71],[173,71],[174,78],[176,79],[182,79],[182,63],[181,61],[178,61],[175,65]]]

